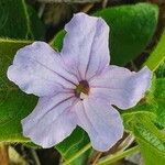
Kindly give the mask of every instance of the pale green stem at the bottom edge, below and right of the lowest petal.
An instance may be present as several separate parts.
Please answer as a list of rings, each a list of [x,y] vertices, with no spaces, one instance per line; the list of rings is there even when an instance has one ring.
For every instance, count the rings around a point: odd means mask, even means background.
[[[117,162],[117,161],[119,161],[119,160],[121,160],[128,155],[131,155],[138,151],[139,151],[139,146],[138,145],[133,146],[133,147],[131,147],[124,152],[119,152],[114,155],[108,156],[107,158],[100,160],[98,165],[108,165],[108,164],[110,165],[111,163],[114,163],[114,162]]]

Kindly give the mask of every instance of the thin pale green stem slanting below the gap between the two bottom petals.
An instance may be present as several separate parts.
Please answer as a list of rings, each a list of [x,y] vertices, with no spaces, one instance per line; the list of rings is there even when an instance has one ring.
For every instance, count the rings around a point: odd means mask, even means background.
[[[81,154],[84,154],[86,151],[88,151],[91,147],[91,144],[87,144],[84,148],[81,148],[79,152],[77,152],[73,157],[70,157],[69,160],[66,160],[63,165],[68,165],[70,164],[74,160],[76,160],[77,157],[79,157]]]

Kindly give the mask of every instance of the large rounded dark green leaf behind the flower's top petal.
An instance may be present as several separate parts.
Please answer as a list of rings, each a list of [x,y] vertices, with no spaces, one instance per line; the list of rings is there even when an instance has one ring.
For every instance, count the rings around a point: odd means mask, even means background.
[[[158,9],[150,3],[138,3],[107,8],[94,15],[101,16],[110,26],[111,63],[125,65],[151,41],[157,25]],[[64,31],[57,33],[52,45],[61,50],[64,35]]]

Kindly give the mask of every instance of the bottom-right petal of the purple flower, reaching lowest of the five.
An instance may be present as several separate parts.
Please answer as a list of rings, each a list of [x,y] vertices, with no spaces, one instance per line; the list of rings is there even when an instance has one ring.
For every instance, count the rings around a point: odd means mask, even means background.
[[[119,112],[107,101],[88,98],[75,106],[78,125],[89,135],[97,151],[108,151],[123,135],[123,124]]]

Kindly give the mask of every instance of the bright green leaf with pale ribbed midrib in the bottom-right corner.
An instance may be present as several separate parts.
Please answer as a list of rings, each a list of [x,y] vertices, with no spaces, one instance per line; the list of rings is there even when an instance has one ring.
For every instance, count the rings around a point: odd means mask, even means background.
[[[155,158],[157,165],[163,165],[165,162],[165,134],[150,121],[145,123],[144,120],[148,119],[141,118],[141,124],[140,122],[136,123],[134,134],[140,144],[145,165],[155,165]]]

